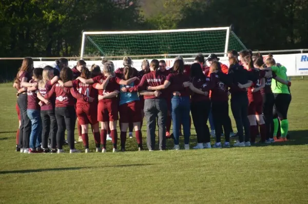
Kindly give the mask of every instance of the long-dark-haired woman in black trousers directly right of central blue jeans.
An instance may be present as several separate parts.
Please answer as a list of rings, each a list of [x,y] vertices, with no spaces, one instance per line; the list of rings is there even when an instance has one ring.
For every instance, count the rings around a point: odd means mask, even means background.
[[[194,63],[190,67],[190,82],[184,83],[194,93],[191,95],[191,116],[197,133],[197,146],[193,149],[211,148],[207,119],[211,102],[208,97],[209,78],[206,77],[199,63]]]

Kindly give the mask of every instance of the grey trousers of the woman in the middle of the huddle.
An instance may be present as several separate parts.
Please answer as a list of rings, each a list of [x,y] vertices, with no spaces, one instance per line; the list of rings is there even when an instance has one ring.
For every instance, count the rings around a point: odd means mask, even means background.
[[[159,149],[166,149],[166,117],[167,103],[163,98],[145,99],[144,116],[146,119],[147,147],[155,149],[156,118],[158,123]]]

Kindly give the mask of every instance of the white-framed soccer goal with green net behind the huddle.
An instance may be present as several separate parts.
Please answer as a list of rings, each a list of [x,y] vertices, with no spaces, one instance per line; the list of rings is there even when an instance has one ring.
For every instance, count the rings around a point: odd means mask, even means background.
[[[83,32],[81,58],[167,58],[177,55],[188,57],[197,53],[223,55],[231,49],[246,48],[230,27]]]

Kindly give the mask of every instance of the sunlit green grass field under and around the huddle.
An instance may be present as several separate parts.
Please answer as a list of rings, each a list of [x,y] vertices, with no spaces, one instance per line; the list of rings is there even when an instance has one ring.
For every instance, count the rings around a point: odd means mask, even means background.
[[[1,84],[0,202],[308,203],[308,81],[292,83],[291,140],[284,144],[137,152],[136,139],[127,139],[127,152],[111,153],[109,142],[105,154],[15,152],[15,91]],[[192,147],[193,126],[191,134]]]

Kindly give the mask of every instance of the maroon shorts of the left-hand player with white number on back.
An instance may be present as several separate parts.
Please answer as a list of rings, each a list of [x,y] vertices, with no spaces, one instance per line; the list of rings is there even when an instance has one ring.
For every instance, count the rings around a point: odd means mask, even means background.
[[[98,123],[98,112],[96,105],[83,105],[76,107],[76,114],[78,117],[78,123],[80,125]]]

